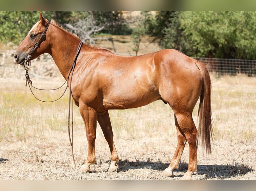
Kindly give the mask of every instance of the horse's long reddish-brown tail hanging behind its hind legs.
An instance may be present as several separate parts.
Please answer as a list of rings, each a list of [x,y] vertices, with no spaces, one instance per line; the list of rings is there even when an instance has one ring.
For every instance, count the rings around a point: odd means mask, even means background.
[[[212,109],[211,109],[211,79],[206,66],[196,61],[195,62],[201,71],[203,78],[203,86],[200,94],[200,103],[198,109],[198,133],[196,146],[198,140],[202,138],[203,151],[206,149],[207,153],[211,153],[211,138],[213,137],[212,129]]]

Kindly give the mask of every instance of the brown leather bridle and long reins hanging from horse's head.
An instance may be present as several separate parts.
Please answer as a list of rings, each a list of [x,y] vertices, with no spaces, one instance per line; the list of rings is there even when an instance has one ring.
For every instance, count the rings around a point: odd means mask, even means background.
[[[71,145],[71,147],[72,147],[73,162],[74,162],[75,168],[77,168],[77,167],[76,167],[75,158],[74,158],[74,150],[73,150],[73,121],[74,121],[74,120],[73,120],[73,119],[74,119],[73,116],[74,116],[74,102],[72,101],[72,135],[70,135],[70,109],[71,109],[71,104],[70,104],[70,103],[71,103],[71,95],[72,95],[72,92],[71,92],[72,76],[73,76],[73,73],[74,73],[74,70],[75,70],[77,58],[78,58],[78,55],[79,55],[79,53],[80,53],[80,51],[81,51],[81,47],[82,47],[82,45],[83,45],[83,42],[80,41],[80,43],[79,43],[79,45],[78,45],[77,52],[76,52],[76,56],[75,56],[75,59],[74,59],[74,61],[73,61],[72,67],[71,67],[71,69],[70,69],[70,72],[69,72],[69,74],[68,74],[68,77],[67,77],[66,81],[64,82],[64,84],[63,84],[62,86],[60,86],[59,88],[56,88],[56,89],[39,89],[39,88],[36,88],[36,87],[32,86],[32,81],[30,80],[29,74],[28,74],[29,66],[31,66],[31,60],[32,60],[31,55],[32,55],[32,53],[38,48],[38,45],[39,45],[39,43],[41,42],[41,40],[45,38],[45,34],[46,34],[46,31],[47,31],[49,25],[50,25],[50,22],[47,23],[47,26],[45,27],[43,33],[41,34],[40,39],[34,44],[33,48],[30,50],[30,53],[28,54],[28,56],[27,56],[26,59],[25,59],[24,69],[25,69],[25,71],[26,71],[26,75],[25,75],[25,77],[26,77],[26,86],[27,86],[27,84],[28,84],[29,89],[30,89],[32,95],[33,95],[37,100],[42,101],[42,102],[54,102],[54,101],[57,101],[58,99],[60,99],[60,98],[65,94],[65,92],[66,92],[66,90],[68,89],[68,86],[69,86],[69,85],[68,85],[68,79],[70,78],[68,132],[69,132],[69,141],[70,141],[70,145]],[[63,86],[66,84],[66,82],[67,82],[67,87],[65,88],[63,94],[62,94],[59,98],[57,98],[57,99],[55,99],[55,100],[52,100],[52,101],[44,101],[44,100],[38,99],[38,98],[34,95],[34,93],[33,93],[33,91],[32,91],[32,88],[37,89],[37,90],[42,90],[42,91],[58,90],[58,89],[60,89],[61,87],[63,87]],[[72,137],[72,139],[71,139],[71,137]]]

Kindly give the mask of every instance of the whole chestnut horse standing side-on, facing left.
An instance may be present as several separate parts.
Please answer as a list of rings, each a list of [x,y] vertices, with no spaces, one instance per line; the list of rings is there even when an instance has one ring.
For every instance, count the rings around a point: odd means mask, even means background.
[[[43,32],[44,38],[35,43]],[[14,59],[17,64],[24,65],[29,54],[31,59],[35,59],[48,53],[67,79],[80,42],[77,36],[53,21],[49,23],[40,13],[40,21],[18,46]],[[34,44],[38,47],[31,53]],[[89,172],[90,165],[95,163],[96,120],[110,148],[108,171],[117,171],[119,159],[108,110],[140,107],[159,99],[168,103],[174,111],[178,139],[174,156],[162,175],[173,175],[186,142],[189,145],[189,162],[182,180],[191,180],[191,175],[197,171],[199,139],[203,149],[211,153],[211,80],[203,63],[172,49],[123,57],[108,49],[83,43],[72,79],[72,87],[69,88],[74,103],[79,106],[88,141],[88,157],[80,171]],[[68,84],[70,80],[68,78]],[[192,112],[199,97],[197,130]]]

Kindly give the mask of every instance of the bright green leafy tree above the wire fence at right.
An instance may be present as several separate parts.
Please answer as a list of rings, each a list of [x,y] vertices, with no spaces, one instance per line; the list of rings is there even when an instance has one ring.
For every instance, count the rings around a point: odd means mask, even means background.
[[[183,11],[185,53],[195,57],[256,59],[255,11]]]

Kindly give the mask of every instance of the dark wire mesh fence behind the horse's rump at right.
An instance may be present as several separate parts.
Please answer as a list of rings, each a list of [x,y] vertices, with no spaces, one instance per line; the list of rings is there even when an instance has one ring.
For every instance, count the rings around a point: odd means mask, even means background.
[[[256,77],[256,60],[220,59],[220,58],[194,58],[207,66],[209,72],[218,75],[245,74]]]

